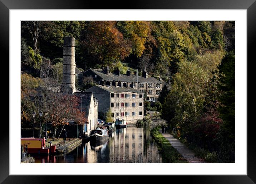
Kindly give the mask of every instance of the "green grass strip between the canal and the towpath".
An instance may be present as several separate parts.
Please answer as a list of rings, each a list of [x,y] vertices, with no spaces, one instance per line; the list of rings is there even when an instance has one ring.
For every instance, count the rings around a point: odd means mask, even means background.
[[[159,132],[160,127],[156,127],[150,131],[153,139],[159,144],[159,151],[162,154],[164,163],[188,163],[179,152],[172,147],[171,143],[163,137]]]

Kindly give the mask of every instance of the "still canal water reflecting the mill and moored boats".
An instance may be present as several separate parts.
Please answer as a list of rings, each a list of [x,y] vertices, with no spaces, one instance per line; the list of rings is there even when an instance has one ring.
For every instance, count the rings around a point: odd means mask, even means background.
[[[152,128],[115,129],[102,144],[89,141],[65,155],[35,156],[35,163],[162,163],[158,146],[150,136]]]

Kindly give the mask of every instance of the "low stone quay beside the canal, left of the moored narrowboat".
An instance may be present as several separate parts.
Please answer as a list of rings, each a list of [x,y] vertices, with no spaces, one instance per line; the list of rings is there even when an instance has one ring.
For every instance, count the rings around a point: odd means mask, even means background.
[[[64,141],[59,142],[56,145],[57,153],[58,154],[65,154],[70,152],[73,148],[77,147],[79,144],[82,143],[82,139],[78,138],[67,138],[66,143]]]

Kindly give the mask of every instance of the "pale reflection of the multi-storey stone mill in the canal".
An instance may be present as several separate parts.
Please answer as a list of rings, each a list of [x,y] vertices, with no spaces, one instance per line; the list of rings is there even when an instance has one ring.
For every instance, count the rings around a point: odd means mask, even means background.
[[[117,129],[109,148],[110,163],[160,163],[158,149],[147,142],[149,133],[143,128],[129,127]],[[156,146],[156,145],[155,145]]]

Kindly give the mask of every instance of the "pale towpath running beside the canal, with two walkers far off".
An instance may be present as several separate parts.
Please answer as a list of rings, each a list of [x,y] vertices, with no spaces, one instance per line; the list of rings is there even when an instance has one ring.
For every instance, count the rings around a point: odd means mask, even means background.
[[[184,157],[189,163],[206,163],[203,159],[198,158],[195,154],[186,147],[183,143],[181,143],[178,139],[174,138],[169,133],[162,133],[162,130],[159,132],[166,138],[172,145],[173,148],[177,149],[177,151]]]

